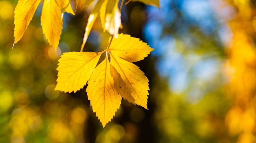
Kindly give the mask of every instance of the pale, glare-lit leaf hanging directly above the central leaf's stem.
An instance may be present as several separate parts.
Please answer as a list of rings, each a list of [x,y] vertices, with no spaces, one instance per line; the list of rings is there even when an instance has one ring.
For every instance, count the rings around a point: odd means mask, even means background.
[[[106,6],[105,28],[110,35],[117,37],[121,26],[121,13],[118,9],[118,0],[109,0]]]

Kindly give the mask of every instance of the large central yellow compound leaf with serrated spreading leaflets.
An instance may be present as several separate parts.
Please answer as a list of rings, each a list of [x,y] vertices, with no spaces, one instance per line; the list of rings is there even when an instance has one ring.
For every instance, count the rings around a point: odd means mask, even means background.
[[[88,99],[104,127],[122,98],[147,109],[148,78],[132,62],[143,60],[152,50],[138,38],[120,34],[112,37],[102,52],[64,53],[59,59],[55,89],[76,92],[88,82]],[[105,59],[97,65],[103,53]]]

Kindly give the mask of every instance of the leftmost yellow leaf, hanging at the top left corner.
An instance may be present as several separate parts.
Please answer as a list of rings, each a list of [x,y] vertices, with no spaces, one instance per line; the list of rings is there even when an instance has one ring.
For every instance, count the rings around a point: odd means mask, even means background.
[[[20,41],[40,0],[19,0],[14,11],[14,43]]]

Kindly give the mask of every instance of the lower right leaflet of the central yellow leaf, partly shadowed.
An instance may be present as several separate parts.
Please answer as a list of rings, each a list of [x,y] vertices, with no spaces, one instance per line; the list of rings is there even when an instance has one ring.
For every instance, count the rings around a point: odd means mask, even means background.
[[[127,90],[135,99],[135,103],[147,109],[148,100],[148,78],[144,73],[128,61],[110,53],[110,64],[115,67],[121,78],[126,83]]]

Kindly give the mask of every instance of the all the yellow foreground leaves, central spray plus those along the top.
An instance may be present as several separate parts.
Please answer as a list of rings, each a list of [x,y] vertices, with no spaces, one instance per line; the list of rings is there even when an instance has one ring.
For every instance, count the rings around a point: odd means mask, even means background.
[[[14,15],[14,43],[24,35],[41,0],[18,0]],[[65,12],[74,15],[71,0],[44,0],[41,26],[49,44],[56,50]],[[73,0],[81,9],[94,0]],[[112,119],[124,98],[147,109],[148,79],[132,62],[137,62],[153,50],[147,43],[130,35],[118,34],[121,26],[119,0],[98,0],[88,18],[81,52],[67,52],[59,59],[55,90],[76,92],[87,83],[86,92],[93,111],[103,127]],[[159,6],[159,0],[132,0]],[[122,1],[123,3],[123,1]],[[120,8],[121,9],[121,8]],[[100,17],[103,31],[112,36],[102,52],[82,52],[96,18]],[[106,53],[105,59],[99,61]]]

